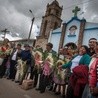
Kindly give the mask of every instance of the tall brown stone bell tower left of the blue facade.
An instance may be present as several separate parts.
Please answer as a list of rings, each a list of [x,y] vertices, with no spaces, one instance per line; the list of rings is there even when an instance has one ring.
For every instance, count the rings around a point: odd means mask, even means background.
[[[57,0],[54,0],[51,4],[47,4],[45,15],[42,17],[40,35],[37,38],[36,44],[41,45],[42,39],[44,39],[43,41],[46,40],[46,44],[48,42],[50,31],[61,26],[62,9],[63,7],[59,6]],[[41,40],[41,43],[39,42],[39,40]]]

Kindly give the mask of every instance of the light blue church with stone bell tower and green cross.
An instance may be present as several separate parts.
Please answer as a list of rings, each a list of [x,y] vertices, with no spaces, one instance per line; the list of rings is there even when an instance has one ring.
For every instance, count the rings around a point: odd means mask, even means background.
[[[47,42],[51,42],[53,49],[58,52],[68,43],[74,43],[77,46],[88,45],[90,38],[98,39],[98,23],[87,22],[84,18],[79,19],[77,14],[81,9],[78,6],[72,11],[74,17],[68,22],[61,20],[62,9],[63,7],[60,7],[56,0],[47,5],[37,44],[45,47]]]

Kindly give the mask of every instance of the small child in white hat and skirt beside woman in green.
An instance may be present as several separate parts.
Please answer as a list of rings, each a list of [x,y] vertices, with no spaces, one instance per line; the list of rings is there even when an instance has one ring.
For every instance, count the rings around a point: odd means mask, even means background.
[[[55,94],[61,94],[61,87],[62,87],[62,96],[65,96],[65,70],[62,69],[60,66],[64,64],[63,60],[58,60],[54,70],[53,80],[55,83],[54,92]],[[57,90],[58,88],[58,90]]]

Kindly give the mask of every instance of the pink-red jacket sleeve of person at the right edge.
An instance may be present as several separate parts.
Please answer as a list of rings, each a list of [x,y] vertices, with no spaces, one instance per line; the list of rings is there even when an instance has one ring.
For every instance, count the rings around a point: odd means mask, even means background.
[[[96,86],[96,84],[97,84],[97,75],[98,75],[98,69],[97,69],[97,67],[98,67],[98,58],[96,58],[93,62],[92,62],[92,64],[91,64],[91,66],[90,66],[90,68],[89,68],[89,86],[90,87],[95,87]]]

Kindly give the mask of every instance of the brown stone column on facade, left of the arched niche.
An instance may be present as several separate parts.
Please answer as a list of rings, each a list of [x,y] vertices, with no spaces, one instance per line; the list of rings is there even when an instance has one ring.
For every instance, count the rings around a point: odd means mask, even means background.
[[[66,23],[64,23],[62,26],[61,38],[60,38],[60,42],[59,42],[59,49],[63,47],[65,34],[66,34]],[[59,51],[59,49],[58,49],[58,51]]]

